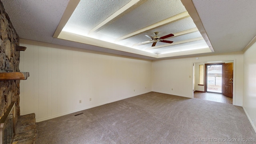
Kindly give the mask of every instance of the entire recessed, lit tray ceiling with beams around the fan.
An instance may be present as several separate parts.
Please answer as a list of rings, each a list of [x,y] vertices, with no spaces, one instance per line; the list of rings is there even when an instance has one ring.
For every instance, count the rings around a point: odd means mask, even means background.
[[[124,8],[127,9],[122,11]],[[66,32],[59,38],[68,40],[70,36],[66,34],[70,32],[95,39],[82,40],[85,37],[81,37],[77,42],[95,42],[95,45],[106,48],[111,48],[114,43],[117,45],[113,49],[126,52],[141,50],[141,53],[166,54],[173,52],[170,50],[173,48],[176,51],[178,48],[180,51],[207,48],[205,42],[194,42],[204,40],[180,0],[81,0],[63,31]],[[164,40],[173,41],[172,44],[162,42],[160,38],[168,34],[174,36]],[[193,40],[195,38],[199,39]],[[104,45],[98,44],[103,41]],[[155,47],[152,47],[153,42],[156,42]]]

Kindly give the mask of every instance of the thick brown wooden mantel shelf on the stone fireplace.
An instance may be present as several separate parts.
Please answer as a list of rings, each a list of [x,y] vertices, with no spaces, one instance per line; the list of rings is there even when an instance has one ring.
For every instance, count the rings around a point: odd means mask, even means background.
[[[26,80],[29,72],[0,72],[0,80]]]

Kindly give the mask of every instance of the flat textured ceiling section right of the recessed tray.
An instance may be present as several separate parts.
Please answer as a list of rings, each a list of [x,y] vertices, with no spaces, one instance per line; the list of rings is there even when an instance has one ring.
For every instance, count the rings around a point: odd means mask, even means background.
[[[216,52],[242,51],[256,35],[256,0],[193,0]]]

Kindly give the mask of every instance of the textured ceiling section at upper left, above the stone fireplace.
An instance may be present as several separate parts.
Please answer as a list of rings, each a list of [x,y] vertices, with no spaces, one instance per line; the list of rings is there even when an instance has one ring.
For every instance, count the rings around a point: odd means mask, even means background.
[[[51,43],[69,0],[1,0],[20,36]]]

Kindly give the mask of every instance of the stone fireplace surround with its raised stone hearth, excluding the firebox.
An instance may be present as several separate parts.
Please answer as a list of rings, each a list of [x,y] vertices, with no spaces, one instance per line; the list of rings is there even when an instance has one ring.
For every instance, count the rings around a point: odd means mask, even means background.
[[[20,50],[24,49],[19,47],[19,36],[0,0],[0,119],[10,104],[15,102],[13,118],[16,128],[13,144],[32,144],[36,137],[35,114],[20,116],[20,80],[29,76],[28,72],[19,70]],[[23,78],[16,78],[16,74]]]

